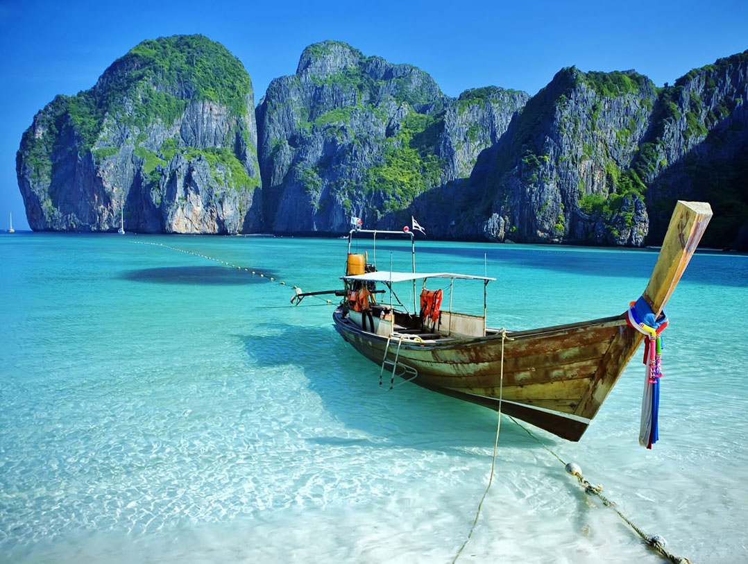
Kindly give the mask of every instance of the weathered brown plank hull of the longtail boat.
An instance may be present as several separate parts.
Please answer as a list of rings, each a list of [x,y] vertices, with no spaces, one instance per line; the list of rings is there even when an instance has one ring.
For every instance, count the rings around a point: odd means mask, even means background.
[[[387,385],[397,356],[396,374],[415,373],[414,384],[494,409],[501,397],[504,413],[569,441],[581,438],[641,343],[623,315],[507,331],[503,344],[493,334],[422,343],[393,337],[390,346],[341,308],[333,319],[343,339],[370,361],[381,366],[387,350]]]

